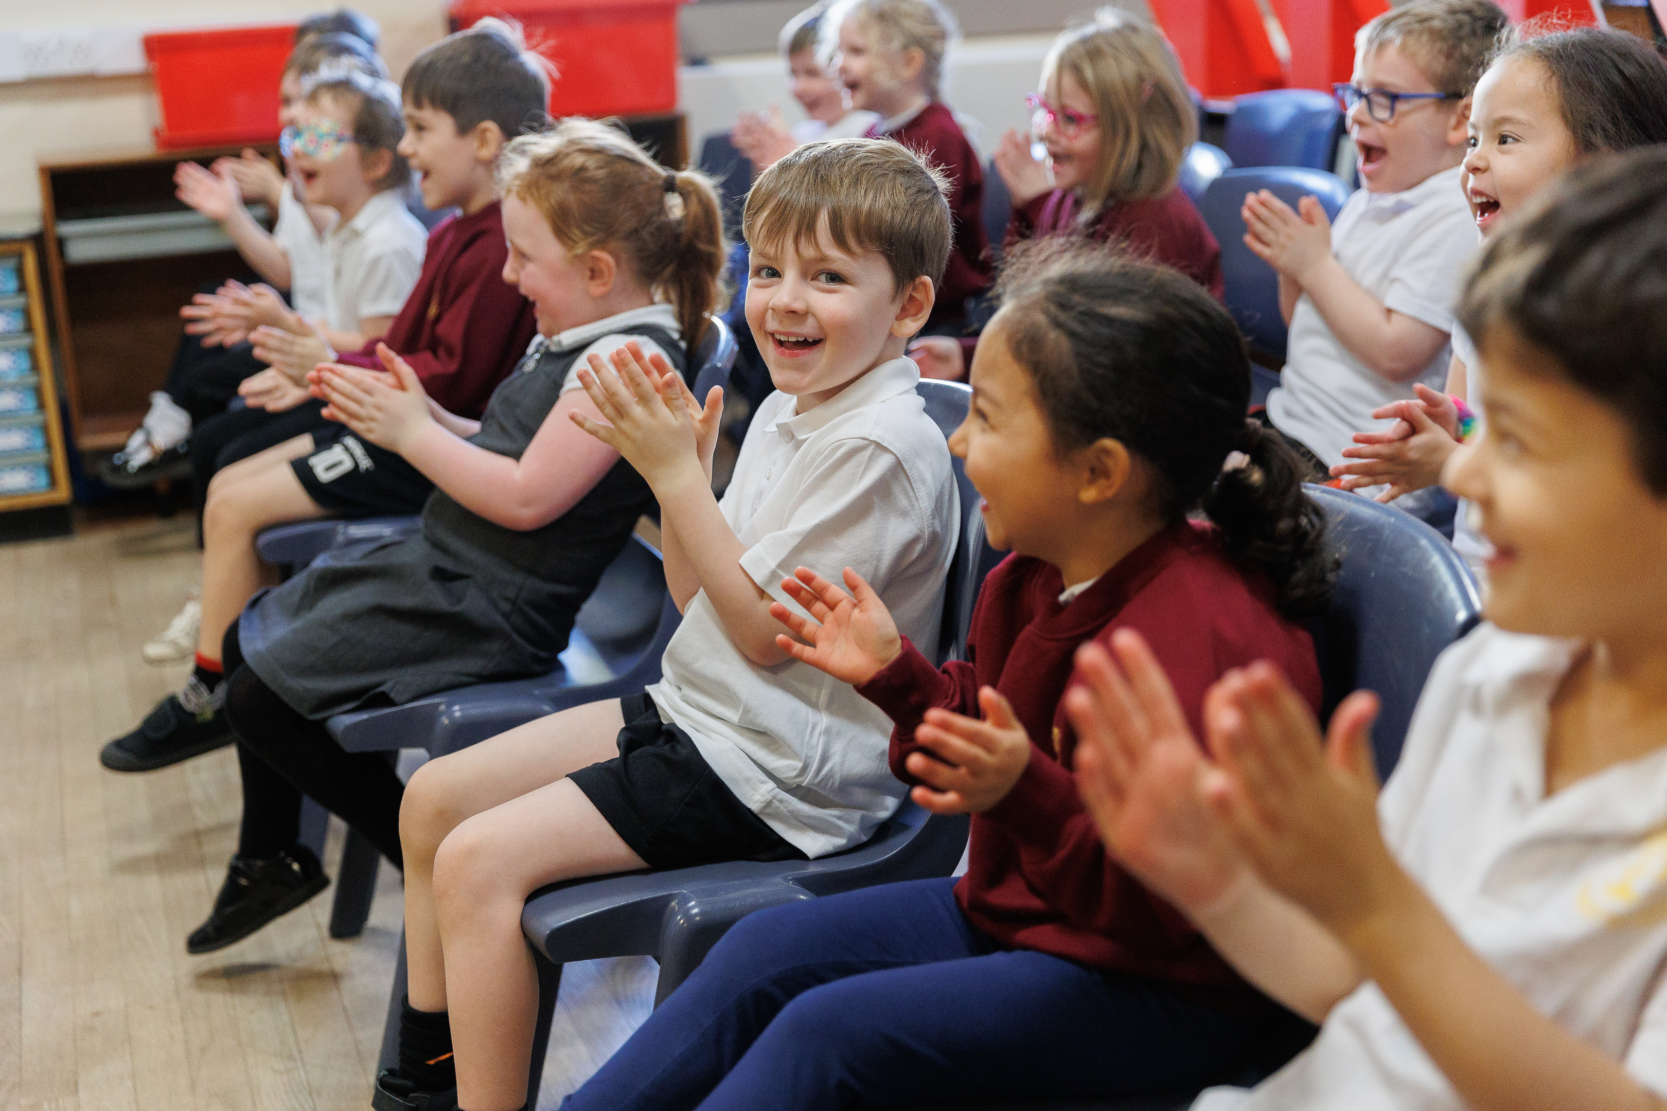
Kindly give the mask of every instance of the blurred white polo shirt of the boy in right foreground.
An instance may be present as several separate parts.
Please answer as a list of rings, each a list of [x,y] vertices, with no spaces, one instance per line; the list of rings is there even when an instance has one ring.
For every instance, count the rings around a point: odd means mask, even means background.
[[[1667,1096],[1667,748],[1545,798],[1579,645],[1484,625],[1442,653],[1379,800],[1390,849],[1465,943],[1559,1026]],[[1375,984],[1254,1091],[1194,1111],[1464,1111]]]

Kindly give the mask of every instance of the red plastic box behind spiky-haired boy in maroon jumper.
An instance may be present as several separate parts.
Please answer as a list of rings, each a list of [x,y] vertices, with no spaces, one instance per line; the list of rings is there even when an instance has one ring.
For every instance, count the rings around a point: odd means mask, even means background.
[[[452,30],[488,15],[522,25],[555,63],[550,115],[677,110],[677,5],[683,0],[453,0]]]

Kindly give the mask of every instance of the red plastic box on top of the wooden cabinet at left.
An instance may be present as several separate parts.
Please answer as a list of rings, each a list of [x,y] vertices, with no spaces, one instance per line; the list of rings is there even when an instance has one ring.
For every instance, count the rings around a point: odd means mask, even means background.
[[[157,147],[270,143],[295,23],[145,35],[162,125]]]

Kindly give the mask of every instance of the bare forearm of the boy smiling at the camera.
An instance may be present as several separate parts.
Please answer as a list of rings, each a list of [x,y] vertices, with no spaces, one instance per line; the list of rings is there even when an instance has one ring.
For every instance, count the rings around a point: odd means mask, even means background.
[[[673,598],[688,590],[692,576],[695,590],[703,590],[717,610],[723,630],[743,656],[758,666],[772,666],[787,660],[775,643],[782,631],[770,616],[770,596],[742,570],[740,558],[747,545],[723,518],[718,500],[712,495],[712,480],[702,468],[690,466],[673,485],[655,490],[660,500],[660,536],[672,536],[673,550],[667,550],[667,585]],[[673,576],[678,576],[673,581]],[[688,590],[693,596],[695,590]]]

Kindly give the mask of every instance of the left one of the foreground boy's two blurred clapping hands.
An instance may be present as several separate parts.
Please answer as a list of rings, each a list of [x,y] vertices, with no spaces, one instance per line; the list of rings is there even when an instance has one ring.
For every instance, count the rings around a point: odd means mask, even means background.
[[[1145,640],[1112,636],[1112,653],[1077,651],[1084,680],[1065,695],[1077,728],[1077,788],[1105,848],[1144,884],[1199,918],[1249,878],[1204,790],[1212,768]],[[1205,703],[1212,716],[1215,688]]]

